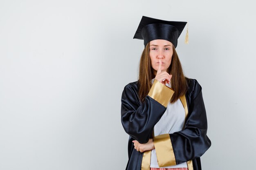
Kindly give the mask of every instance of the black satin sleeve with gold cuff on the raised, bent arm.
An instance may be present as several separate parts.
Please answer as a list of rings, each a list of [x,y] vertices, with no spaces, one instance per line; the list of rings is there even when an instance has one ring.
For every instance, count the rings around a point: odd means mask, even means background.
[[[126,85],[121,97],[121,123],[126,133],[141,144],[147,143],[173,93],[171,88],[155,79],[141,104],[136,88]]]

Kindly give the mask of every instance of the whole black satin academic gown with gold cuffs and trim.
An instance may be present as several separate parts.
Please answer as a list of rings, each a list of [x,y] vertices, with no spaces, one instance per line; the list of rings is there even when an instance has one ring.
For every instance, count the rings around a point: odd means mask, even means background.
[[[202,87],[196,79],[186,80],[188,90],[184,103],[187,105],[187,116],[183,130],[153,137],[159,168],[187,162],[189,170],[201,170],[200,157],[211,146],[207,137]],[[138,81],[132,82],[124,87],[121,96],[121,123],[125,132],[130,135],[126,170],[149,170],[150,156],[149,162],[145,160],[151,151],[148,154],[148,151],[135,150],[132,141],[145,144],[152,138],[155,124],[166,111],[167,104],[175,93],[156,79],[144,102],[140,101],[138,91]]]

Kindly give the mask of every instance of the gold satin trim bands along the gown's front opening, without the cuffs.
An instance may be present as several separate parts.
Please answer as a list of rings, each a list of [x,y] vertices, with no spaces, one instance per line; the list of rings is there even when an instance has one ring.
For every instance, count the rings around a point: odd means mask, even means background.
[[[180,97],[180,101],[182,102],[182,105],[185,109],[185,120],[186,120],[189,110],[188,110],[188,106],[186,104],[185,95]],[[185,124],[184,124],[184,126],[185,126]],[[184,126],[183,126],[183,129],[184,129]],[[147,150],[147,151],[143,152],[143,157],[142,157],[142,162],[141,162],[141,170],[150,170],[150,157],[151,157],[151,150]],[[187,161],[186,163],[187,163],[188,169],[193,170],[192,160]]]

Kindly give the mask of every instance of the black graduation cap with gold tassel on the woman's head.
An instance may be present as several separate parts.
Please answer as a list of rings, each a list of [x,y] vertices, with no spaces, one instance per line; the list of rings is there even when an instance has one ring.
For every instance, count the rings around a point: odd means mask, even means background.
[[[177,47],[178,38],[182,33],[187,22],[165,21],[142,16],[138,29],[133,37],[144,40],[144,46],[152,40],[162,39],[170,41],[175,48]],[[185,43],[188,44],[188,29],[186,32]]]

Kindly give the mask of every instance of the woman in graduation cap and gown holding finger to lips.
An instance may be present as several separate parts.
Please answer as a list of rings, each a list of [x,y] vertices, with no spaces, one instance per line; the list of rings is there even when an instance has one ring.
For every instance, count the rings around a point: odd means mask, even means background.
[[[186,22],[143,16],[139,80],[124,87],[121,122],[129,137],[126,170],[201,170],[211,146],[202,88],[184,77],[175,51]]]

